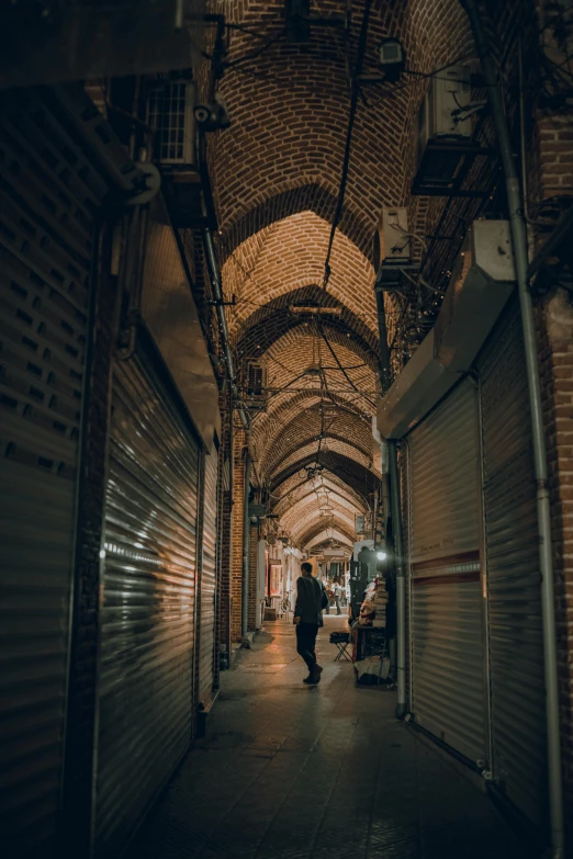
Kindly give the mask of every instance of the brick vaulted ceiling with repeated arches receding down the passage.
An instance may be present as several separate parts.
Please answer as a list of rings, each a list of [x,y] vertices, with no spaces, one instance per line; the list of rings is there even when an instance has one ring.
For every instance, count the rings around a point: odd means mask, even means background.
[[[367,509],[379,477],[372,236],[383,205],[407,206],[422,230],[430,216],[409,196],[425,82],[412,76],[370,88],[358,106],[325,291],[350,105],[347,61],[356,60],[364,2],[311,0],[313,18],[344,20],[350,10],[349,37],[342,26],[313,26],[303,44],[285,38],[284,5],[210,3],[232,24],[218,82],[232,125],[209,136],[217,251],[225,295],[236,299],[228,325],[238,364],[257,359],[267,370],[267,410],[252,420],[250,447],[280,524],[301,545],[335,533],[351,543],[355,515]],[[408,67],[423,74],[470,49],[458,0],[373,0],[363,74],[380,72],[378,46],[387,36],[402,41]],[[336,314],[301,314],[296,305]],[[305,373],[312,363],[321,374]],[[304,477],[313,464],[323,466],[314,483]]]

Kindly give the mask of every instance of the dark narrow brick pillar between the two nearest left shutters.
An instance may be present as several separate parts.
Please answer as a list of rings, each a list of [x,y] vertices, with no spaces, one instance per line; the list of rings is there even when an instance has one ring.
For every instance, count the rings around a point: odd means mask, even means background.
[[[61,855],[88,856],[91,840],[94,743],[97,734],[98,629],[100,623],[100,551],[104,528],[108,428],[111,404],[113,349],[110,308],[115,282],[110,275],[111,226],[103,224],[98,278],[86,369],[81,483],[69,665],[68,717],[64,772]]]

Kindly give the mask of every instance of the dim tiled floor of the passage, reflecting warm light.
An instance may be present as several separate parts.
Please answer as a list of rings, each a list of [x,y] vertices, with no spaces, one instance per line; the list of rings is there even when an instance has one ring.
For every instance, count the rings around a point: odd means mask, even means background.
[[[344,618],[325,620],[318,687],[283,621],[239,654],[130,857],[524,859],[487,798],[394,719],[394,693],[334,662]]]

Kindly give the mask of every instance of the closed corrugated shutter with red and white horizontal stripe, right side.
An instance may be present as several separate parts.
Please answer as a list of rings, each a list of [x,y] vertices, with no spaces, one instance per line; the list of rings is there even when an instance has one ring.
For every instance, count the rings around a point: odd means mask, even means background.
[[[462,382],[408,437],[413,715],[485,760],[478,398]]]

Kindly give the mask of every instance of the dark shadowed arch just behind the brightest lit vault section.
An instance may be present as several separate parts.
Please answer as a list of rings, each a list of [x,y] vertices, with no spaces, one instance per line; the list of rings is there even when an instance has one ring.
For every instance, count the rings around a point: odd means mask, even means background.
[[[255,358],[265,352],[289,331],[313,328],[316,323],[314,317],[292,313],[293,305],[317,305],[321,307],[336,307],[341,310],[339,317],[321,317],[321,327],[327,337],[333,337],[338,342],[341,338],[349,340],[357,354],[362,355],[373,368],[378,364],[378,337],[357,316],[348,305],[337,301],[329,293],[316,285],[308,284],[299,290],[284,293],[278,298],[257,308],[249,316],[243,328],[236,332],[237,352],[239,357]],[[373,312],[372,312],[373,313]]]

